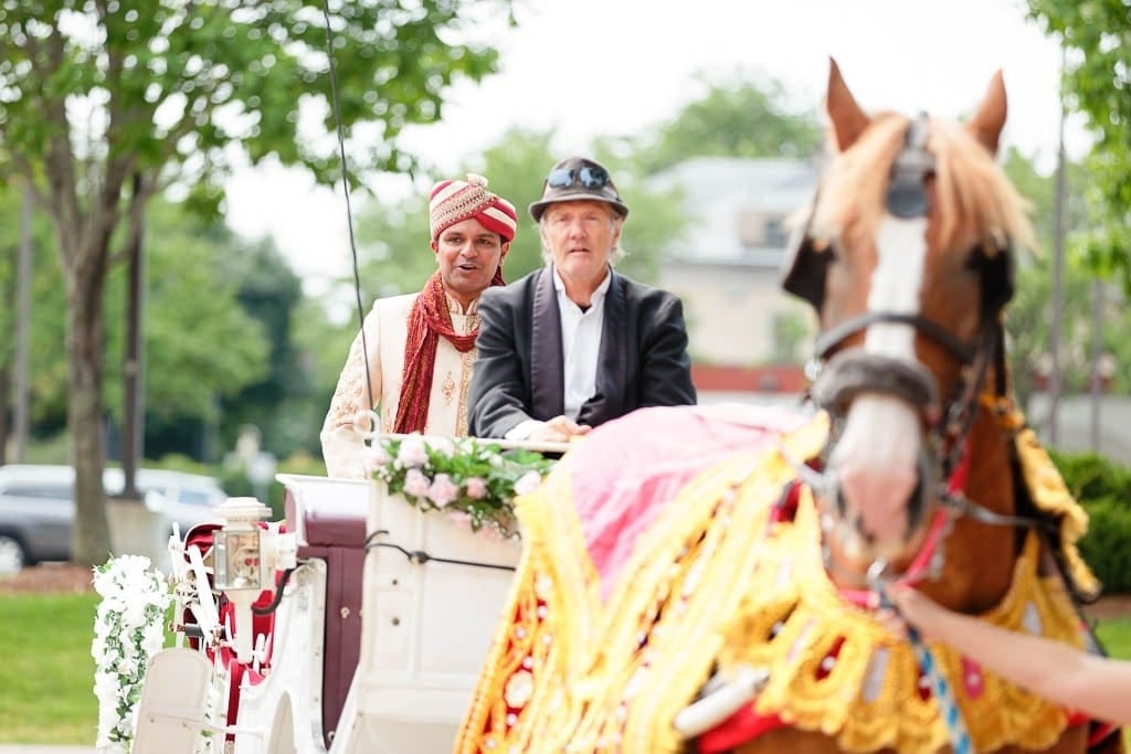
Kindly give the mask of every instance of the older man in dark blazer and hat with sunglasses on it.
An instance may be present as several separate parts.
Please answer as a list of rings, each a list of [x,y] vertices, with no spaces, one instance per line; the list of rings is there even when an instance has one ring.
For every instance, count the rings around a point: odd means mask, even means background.
[[[628,214],[599,163],[550,171],[530,205],[545,267],[480,302],[473,435],[561,442],[637,408],[696,402],[680,300],[613,269]]]

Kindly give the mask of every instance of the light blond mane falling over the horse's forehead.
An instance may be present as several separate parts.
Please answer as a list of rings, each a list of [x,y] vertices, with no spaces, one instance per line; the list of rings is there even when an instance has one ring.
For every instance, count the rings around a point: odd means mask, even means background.
[[[1012,241],[1035,249],[1029,205],[990,150],[956,121],[931,118],[929,123],[940,248],[981,243],[993,254]],[[908,124],[905,115],[880,113],[855,144],[832,155],[814,207],[810,228],[814,237],[826,242],[875,237],[887,213],[888,166],[904,148]]]

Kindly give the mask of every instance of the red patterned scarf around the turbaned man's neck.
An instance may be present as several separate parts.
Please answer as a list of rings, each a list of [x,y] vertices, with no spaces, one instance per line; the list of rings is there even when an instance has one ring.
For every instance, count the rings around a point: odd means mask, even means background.
[[[495,269],[491,285],[502,285],[502,265]],[[397,433],[423,432],[428,422],[429,398],[432,396],[432,375],[435,373],[435,349],[443,336],[461,354],[475,347],[480,333],[476,324],[467,335],[452,328],[448,297],[437,270],[424,284],[408,313],[408,339],[405,341],[405,369],[400,373],[400,404],[392,431]]]

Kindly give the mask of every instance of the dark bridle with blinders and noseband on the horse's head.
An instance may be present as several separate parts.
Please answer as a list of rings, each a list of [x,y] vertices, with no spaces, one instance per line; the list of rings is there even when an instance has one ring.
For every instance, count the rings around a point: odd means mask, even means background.
[[[920,115],[907,128],[903,150],[891,166],[886,196],[886,208],[896,217],[909,219],[925,217],[931,209],[927,181],[934,177],[935,159],[927,150],[929,122]],[[824,305],[828,267],[834,254],[827,242],[813,235],[813,217],[820,187],[814,196],[810,215],[803,223],[789,253],[783,287],[808,301],[821,313]],[[977,415],[983,385],[993,367],[993,396],[996,410],[1007,410],[1008,385],[1004,357],[1004,328],[1002,310],[1013,294],[1013,250],[1008,240],[993,241],[994,249],[985,253],[976,249],[974,259],[982,271],[982,311],[976,335],[972,340],[956,336],[949,328],[922,314],[892,311],[870,311],[838,322],[817,338],[809,373],[812,379],[809,398],[826,409],[834,421],[830,442],[822,460],[828,458],[843,428],[852,401],[863,392],[893,396],[910,405],[927,427],[926,445],[932,452],[920,453],[921,483],[908,512],[913,525],[927,510],[929,496],[934,492],[943,504],[961,514],[985,523],[1036,527],[1039,519],[1002,515],[976,502],[969,501],[951,480],[959,470],[966,451],[967,435]],[[877,323],[908,324],[920,335],[941,346],[962,365],[962,375],[953,397],[940,406],[939,388],[934,375],[918,362],[867,353],[863,347],[845,347],[845,341]],[[944,410],[943,410],[944,409]],[[841,505],[836,480],[821,475],[820,491],[830,501]]]

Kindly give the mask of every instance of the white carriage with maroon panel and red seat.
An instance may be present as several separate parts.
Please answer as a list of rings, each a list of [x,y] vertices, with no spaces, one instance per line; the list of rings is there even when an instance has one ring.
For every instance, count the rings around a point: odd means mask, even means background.
[[[382,482],[278,479],[285,526],[232,499],[174,547],[185,639],[150,665],[133,751],[450,751],[519,543]]]

